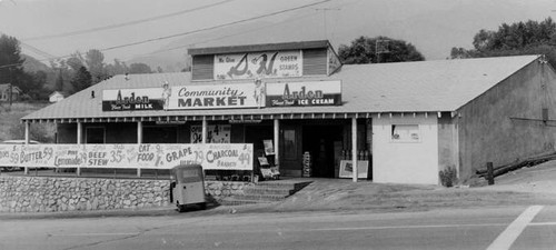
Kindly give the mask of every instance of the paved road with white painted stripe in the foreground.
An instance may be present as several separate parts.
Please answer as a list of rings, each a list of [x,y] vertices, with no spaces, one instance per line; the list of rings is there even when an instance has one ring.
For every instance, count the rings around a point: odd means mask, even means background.
[[[0,221],[0,249],[556,249],[556,207]]]

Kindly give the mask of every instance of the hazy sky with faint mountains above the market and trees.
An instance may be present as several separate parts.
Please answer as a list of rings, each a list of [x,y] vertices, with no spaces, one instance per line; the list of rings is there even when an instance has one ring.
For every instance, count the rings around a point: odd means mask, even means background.
[[[337,49],[360,36],[443,60],[451,47],[471,48],[480,29],[555,9],[554,0],[0,0],[0,32],[39,60],[100,49],[108,62],[171,64],[192,47],[327,39]]]

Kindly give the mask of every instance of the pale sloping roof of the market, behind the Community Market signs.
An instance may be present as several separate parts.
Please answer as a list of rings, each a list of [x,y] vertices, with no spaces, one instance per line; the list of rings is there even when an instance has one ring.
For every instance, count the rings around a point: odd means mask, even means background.
[[[103,112],[105,89],[156,88],[166,81],[170,86],[234,84],[249,81],[191,81],[188,72],[130,74],[129,80],[125,76],[116,76],[22,119],[455,111],[537,58],[520,56],[348,64],[330,77],[267,79],[268,83],[286,80],[341,80],[344,104],[335,107]],[[91,98],[92,91],[95,98]]]

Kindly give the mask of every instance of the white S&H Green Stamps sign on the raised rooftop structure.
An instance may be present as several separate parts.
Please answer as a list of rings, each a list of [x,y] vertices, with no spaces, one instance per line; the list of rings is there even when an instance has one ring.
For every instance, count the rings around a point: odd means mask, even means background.
[[[215,80],[302,76],[300,50],[215,54]]]

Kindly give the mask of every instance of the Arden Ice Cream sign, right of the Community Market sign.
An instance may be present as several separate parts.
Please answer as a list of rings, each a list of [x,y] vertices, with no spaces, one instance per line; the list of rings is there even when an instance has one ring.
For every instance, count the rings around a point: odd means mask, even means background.
[[[341,106],[340,81],[267,84],[266,107]]]

